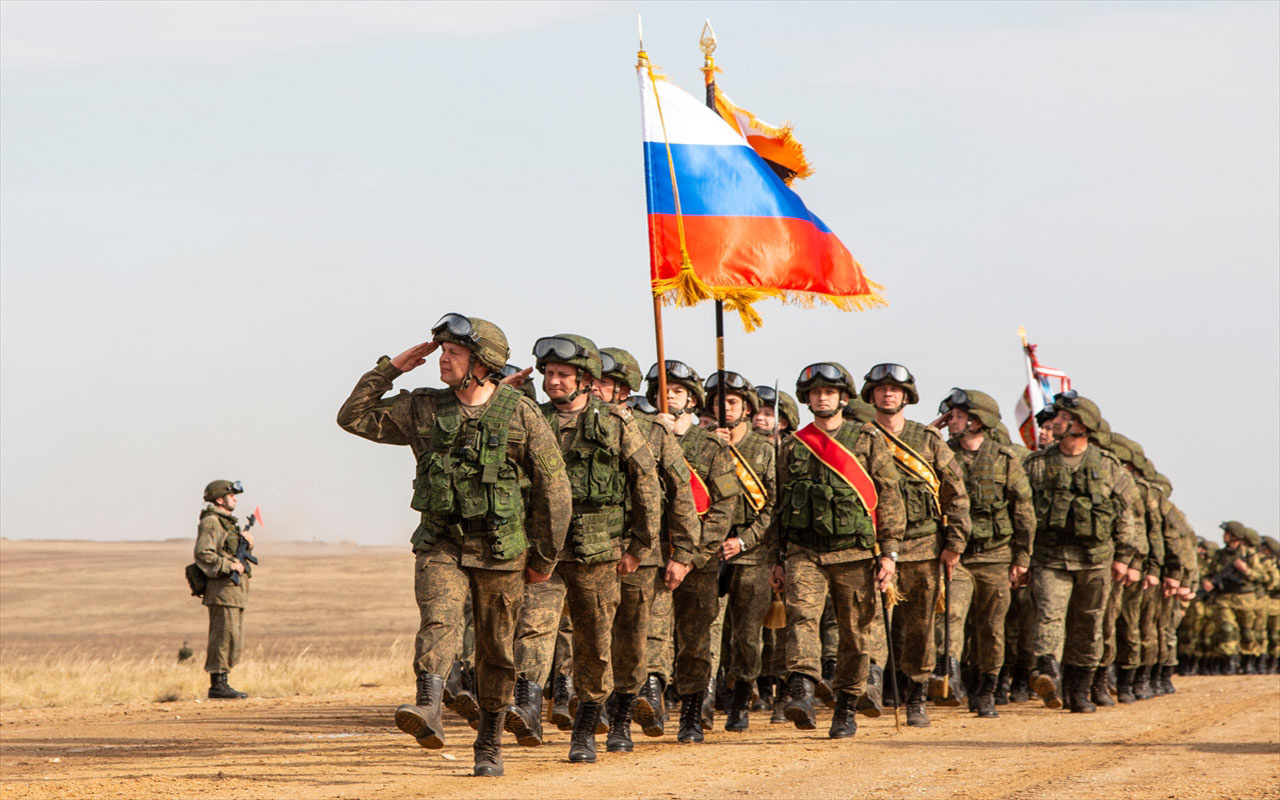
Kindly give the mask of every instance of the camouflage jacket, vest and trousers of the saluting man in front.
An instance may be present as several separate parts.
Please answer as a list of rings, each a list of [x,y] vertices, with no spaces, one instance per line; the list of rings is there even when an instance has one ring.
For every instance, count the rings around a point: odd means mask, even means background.
[[[462,650],[463,604],[470,594],[479,701],[485,712],[498,713],[516,684],[515,630],[524,603],[525,567],[552,572],[568,527],[571,500],[564,462],[538,406],[516,389],[499,387],[479,407],[462,406],[448,389],[415,389],[383,399],[399,375],[401,370],[381,357],[352,389],[338,412],[338,425],[371,442],[407,445],[417,458],[412,506],[421,511],[422,522],[411,543],[421,621],[413,668],[420,681],[448,673]],[[486,416],[490,410],[494,412]],[[489,440],[480,439],[481,429],[492,434]],[[504,439],[504,452],[495,458],[497,485],[517,488],[500,498],[511,511],[499,531],[475,524],[484,522],[484,509],[474,507],[479,498],[462,494],[461,484],[456,495],[452,488],[447,494],[438,485],[442,475],[458,476],[472,463],[479,467],[443,444],[454,436],[462,436],[466,447],[479,445],[486,460],[494,454],[489,443],[500,445]],[[518,489],[520,476],[529,481],[527,506]],[[436,504],[445,497],[456,498],[449,511]],[[477,512],[480,517],[471,516]],[[521,532],[516,535],[515,530]]]

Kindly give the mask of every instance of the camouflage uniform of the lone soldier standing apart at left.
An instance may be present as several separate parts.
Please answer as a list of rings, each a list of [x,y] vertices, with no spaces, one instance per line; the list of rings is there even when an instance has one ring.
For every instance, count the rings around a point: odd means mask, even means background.
[[[239,525],[229,511],[212,503],[205,506],[196,534],[196,563],[209,577],[205,589],[205,605],[209,608],[205,672],[221,675],[223,680],[239,663],[244,603],[248,600],[250,564],[244,564],[238,586],[230,579],[239,539]]]

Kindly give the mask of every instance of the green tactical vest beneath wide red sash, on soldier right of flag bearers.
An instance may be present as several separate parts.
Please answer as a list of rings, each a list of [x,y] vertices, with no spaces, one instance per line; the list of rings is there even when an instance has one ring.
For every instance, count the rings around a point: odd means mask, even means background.
[[[847,420],[835,439],[852,452],[860,430],[860,424]],[[876,526],[858,493],[799,440],[783,479],[787,490],[776,513],[790,541],[819,553],[876,545]]]

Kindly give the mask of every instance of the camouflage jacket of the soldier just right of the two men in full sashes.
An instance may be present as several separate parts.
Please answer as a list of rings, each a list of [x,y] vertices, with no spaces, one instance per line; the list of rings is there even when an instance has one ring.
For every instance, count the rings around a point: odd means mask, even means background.
[[[956,463],[964,472],[972,531],[979,527],[992,529],[989,538],[970,535],[963,562],[1029,566],[1036,539],[1036,507],[1032,504],[1032,486],[1027,483],[1021,456],[993,436],[983,436],[972,461],[959,439],[947,442],[947,445],[956,454]],[[982,466],[987,463],[989,467]],[[974,467],[979,467],[984,475],[974,475]],[[986,475],[988,471],[989,475]]]

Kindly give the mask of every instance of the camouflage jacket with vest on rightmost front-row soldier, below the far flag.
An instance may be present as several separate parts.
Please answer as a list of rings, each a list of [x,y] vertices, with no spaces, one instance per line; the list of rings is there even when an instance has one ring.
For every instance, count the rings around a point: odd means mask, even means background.
[[[1028,456],[1025,467],[1036,504],[1033,564],[1074,571],[1111,561],[1140,563],[1146,531],[1139,530],[1137,515],[1143,500],[1115,456],[1091,444],[1071,470],[1059,445],[1051,444]],[[1075,534],[1076,525],[1088,536]]]

